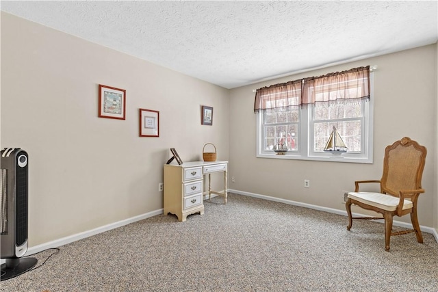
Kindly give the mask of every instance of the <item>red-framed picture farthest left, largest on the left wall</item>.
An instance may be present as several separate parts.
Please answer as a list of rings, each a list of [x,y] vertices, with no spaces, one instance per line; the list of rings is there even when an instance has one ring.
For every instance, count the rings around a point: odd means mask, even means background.
[[[99,84],[99,118],[125,120],[126,90]]]

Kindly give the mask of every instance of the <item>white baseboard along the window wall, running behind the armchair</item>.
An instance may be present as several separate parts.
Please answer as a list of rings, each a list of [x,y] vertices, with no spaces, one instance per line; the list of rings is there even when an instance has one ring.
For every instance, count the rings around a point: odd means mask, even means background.
[[[238,194],[238,195],[243,195],[243,196],[250,196],[250,197],[260,198],[260,199],[263,199],[263,200],[270,200],[270,201],[274,201],[274,202],[282,202],[282,203],[285,203],[285,204],[292,204],[292,205],[298,206],[298,207],[305,207],[305,208],[309,208],[309,209],[315,209],[315,210],[318,210],[318,211],[324,211],[324,212],[329,212],[329,213],[335,213],[337,215],[347,216],[347,211],[342,211],[342,210],[338,210],[338,209],[332,209],[332,208],[317,206],[317,205],[314,205],[314,204],[307,204],[307,203],[296,202],[296,201],[292,201],[292,200],[285,200],[285,199],[281,199],[281,198],[274,198],[274,197],[270,197],[270,196],[254,194],[254,193],[249,193],[248,191],[238,191],[237,189],[228,189],[228,191],[230,193],[233,193],[233,194]],[[355,217],[368,217],[368,215],[363,215],[363,214],[359,214],[359,213],[353,213],[353,215]],[[374,221],[383,223],[383,220],[374,220]],[[395,226],[400,226],[400,227],[403,227],[403,228],[411,228],[411,229],[413,228],[412,224],[406,223],[406,222],[401,222],[401,221],[395,221],[394,220],[393,224]],[[437,230],[435,230],[435,228],[428,227],[428,226],[421,226],[420,225],[420,229],[424,233],[431,233],[431,234],[433,234],[434,237],[435,237],[435,240],[438,243],[438,232],[437,232]]]

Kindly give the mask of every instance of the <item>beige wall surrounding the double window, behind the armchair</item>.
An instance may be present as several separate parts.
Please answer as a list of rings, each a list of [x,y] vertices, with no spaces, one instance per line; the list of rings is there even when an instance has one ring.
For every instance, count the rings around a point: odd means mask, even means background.
[[[419,220],[421,225],[436,226],[436,48],[433,44],[231,90],[229,176],[235,176],[235,183],[230,183],[230,188],[344,211],[342,190],[353,190],[356,180],[381,178],[385,146],[409,136],[428,148],[422,181],[426,194],[420,198]],[[374,73],[373,96],[374,163],[255,157],[254,89],[366,65],[378,66]],[[309,189],[303,187],[304,179],[310,180]],[[410,222],[409,216],[397,220]]]

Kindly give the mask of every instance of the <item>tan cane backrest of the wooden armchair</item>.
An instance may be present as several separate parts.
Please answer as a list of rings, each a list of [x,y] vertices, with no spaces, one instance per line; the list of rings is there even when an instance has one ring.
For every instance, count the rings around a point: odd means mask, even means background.
[[[394,142],[385,148],[381,191],[398,196],[402,189],[420,189],[426,163],[426,147],[409,137]]]

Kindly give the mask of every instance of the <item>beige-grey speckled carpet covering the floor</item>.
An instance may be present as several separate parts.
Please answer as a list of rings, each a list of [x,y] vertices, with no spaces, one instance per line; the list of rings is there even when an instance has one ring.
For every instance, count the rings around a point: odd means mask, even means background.
[[[178,222],[157,215],[60,247],[0,291],[438,291],[438,243],[229,194]],[[401,228],[394,227],[398,230]],[[53,253],[34,254],[38,265]]]

